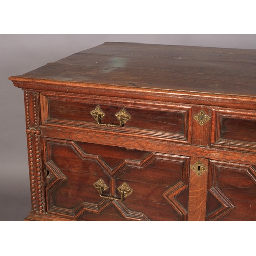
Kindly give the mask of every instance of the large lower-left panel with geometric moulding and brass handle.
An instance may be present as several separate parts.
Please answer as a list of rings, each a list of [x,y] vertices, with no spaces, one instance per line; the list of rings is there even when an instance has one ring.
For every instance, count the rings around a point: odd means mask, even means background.
[[[43,143],[47,212],[87,221],[187,220],[188,157],[47,138]]]

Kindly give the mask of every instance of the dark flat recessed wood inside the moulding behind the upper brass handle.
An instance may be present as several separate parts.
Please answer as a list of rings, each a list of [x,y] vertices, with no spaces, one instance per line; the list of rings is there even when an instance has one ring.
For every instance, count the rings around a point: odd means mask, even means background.
[[[87,104],[84,102],[71,102],[63,100],[52,100],[48,101],[49,109],[49,121],[50,122],[61,122],[71,121],[87,124],[96,121],[90,114],[92,110],[95,109],[97,105],[100,104],[100,108],[105,113],[105,117],[102,119],[102,123],[113,123],[118,125],[119,121],[115,114],[118,113],[122,108],[131,115],[131,120],[129,120],[125,127],[133,128],[144,133],[169,133],[174,134],[174,136],[185,137],[186,127],[185,127],[185,115],[187,114],[182,108],[172,109],[170,111],[156,110],[156,109],[141,109],[141,108],[131,108],[119,102],[119,106],[105,105],[103,102],[93,102]]]

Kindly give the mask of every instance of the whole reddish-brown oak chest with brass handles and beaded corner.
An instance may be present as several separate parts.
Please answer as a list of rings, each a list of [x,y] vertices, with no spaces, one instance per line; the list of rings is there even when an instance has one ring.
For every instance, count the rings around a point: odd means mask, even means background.
[[[256,220],[256,50],[106,42],[9,79],[25,220]]]

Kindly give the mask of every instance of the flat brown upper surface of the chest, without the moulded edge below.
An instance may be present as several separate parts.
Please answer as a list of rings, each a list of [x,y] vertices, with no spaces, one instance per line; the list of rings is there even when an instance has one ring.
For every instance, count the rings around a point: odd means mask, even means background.
[[[105,42],[22,79],[256,96],[256,50]]]

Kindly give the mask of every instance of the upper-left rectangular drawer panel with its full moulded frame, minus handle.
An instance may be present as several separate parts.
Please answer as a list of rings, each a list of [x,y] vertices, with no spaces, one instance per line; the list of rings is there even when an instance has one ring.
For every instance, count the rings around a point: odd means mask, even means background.
[[[104,112],[97,124],[90,113],[97,106]],[[116,114],[125,109],[130,118],[122,125]],[[174,141],[190,142],[188,119],[191,108],[180,105],[167,105],[157,102],[136,102],[120,99],[95,99],[71,97],[67,95],[41,95],[42,124],[80,126],[81,129],[103,129],[105,132],[117,131],[132,136],[157,137]]]

